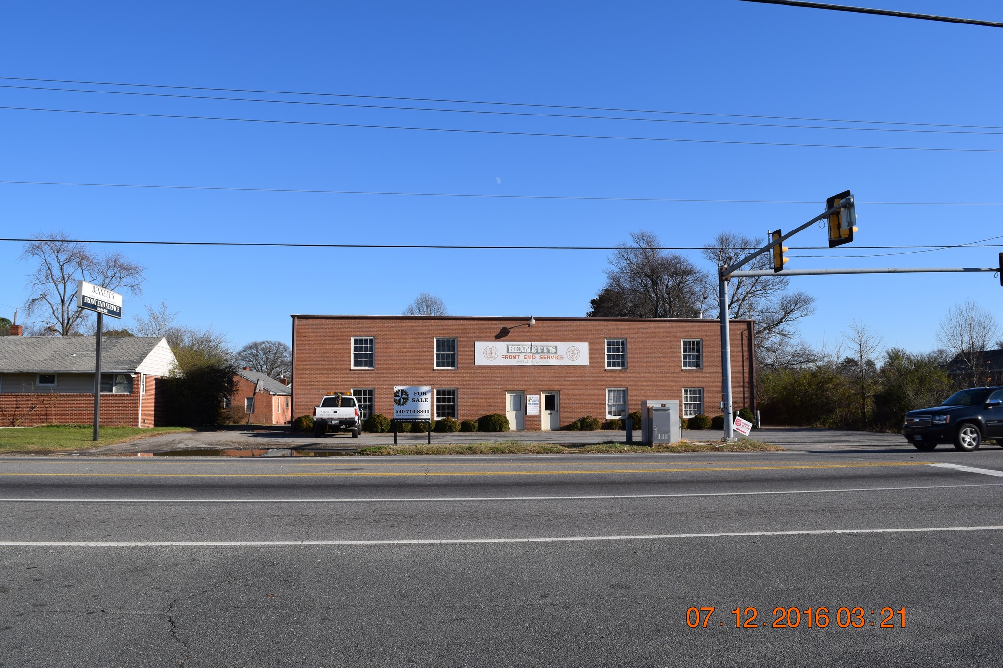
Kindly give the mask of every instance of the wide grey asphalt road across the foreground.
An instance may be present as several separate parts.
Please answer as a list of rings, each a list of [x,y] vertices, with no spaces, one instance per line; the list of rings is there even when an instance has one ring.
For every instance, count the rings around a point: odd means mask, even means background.
[[[0,505],[2,666],[1003,656],[995,447],[19,457],[0,459]],[[796,628],[774,628],[776,608],[797,608]]]

